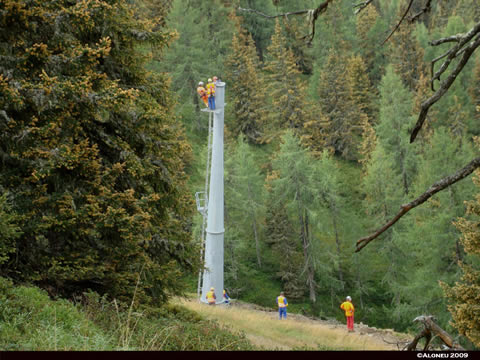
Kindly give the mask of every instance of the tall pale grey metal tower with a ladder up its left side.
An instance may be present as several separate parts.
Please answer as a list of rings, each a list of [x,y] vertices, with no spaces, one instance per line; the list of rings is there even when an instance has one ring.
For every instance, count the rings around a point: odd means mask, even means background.
[[[224,131],[225,83],[217,82],[215,91],[215,110],[203,109],[209,113],[209,144],[207,152],[206,182],[210,179],[208,193],[203,194],[203,203],[200,193],[196,194],[197,207],[206,219],[207,227],[203,232],[205,244],[203,254],[205,269],[203,276],[199,276],[199,290],[201,283],[200,301],[206,303],[207,292],[215,288],[216,303],[223,302],[223,242],[224,242],[224,195],[223,195],[223,131]],[[211,130],[211,116],[213,114],[213,130]],[[211,133],[212,131],[212,133]],[[211,142],[210,142],[211,141]],[[211,167],[208,169],[210,163]],[[210,174],[208,173],[210,170]],[[209,176],[210,175],[210,176]],[[200,278],[202,281],[200,281]]]

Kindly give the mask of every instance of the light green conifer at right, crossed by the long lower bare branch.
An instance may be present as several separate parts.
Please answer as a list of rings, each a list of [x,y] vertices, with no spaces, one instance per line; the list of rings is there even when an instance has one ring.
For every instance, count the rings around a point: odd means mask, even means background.
[[[412,192],[421,193],[472,157],[471,144],[444,127],[435,129],[418,158],[419,170],[412,182]],[[463,199],[471,197],[473,190],[469,182],[455,184],[451,191],[438,194],[421,211],[405,219],[404,226],[393,234],[392,241],[400,251],[409,253],[400,268],[402,273],[408,273],[407,279],[391,282],[392,292],[402,304],[394,314],[403,323],[421,312],[436,314],[438,324],[447,325],[449,315],[438,281],[452,284],[457,278],[455,264],[463,255],[452,218],[463,214]],[[428,246],[418,244],[419,238]]]

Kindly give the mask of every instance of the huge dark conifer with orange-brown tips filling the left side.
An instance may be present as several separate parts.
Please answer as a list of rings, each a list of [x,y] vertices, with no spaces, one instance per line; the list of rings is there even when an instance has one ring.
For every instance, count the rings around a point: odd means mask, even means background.
[[[2,273],[71,295],[163,301],[195,263],[190,147],[151,52],[172,34],[124,0],[0,3],[0,184],[23,234]],[[189,265],[190,264],[190,265]]]

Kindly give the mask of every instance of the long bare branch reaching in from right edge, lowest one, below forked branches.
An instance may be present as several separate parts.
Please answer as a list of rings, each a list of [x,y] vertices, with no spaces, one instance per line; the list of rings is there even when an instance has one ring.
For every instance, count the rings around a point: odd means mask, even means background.
[[[402,205],[400,212],[392,220],[390,220],[388,223],[386,223],[380,229],[375,231],[375,233],[373,233],[372,235],[366,236],[366,237],[358,240],[357,241],[357,248],[356,248],[355,252],[359,252],[360,250],[362,250],[365,246],[367,246],[367,244],[370,241],[372,241],[372,240],[376,239],[378,236],[380,236],[383,232],[385,232],[388,228],[390,228],[393,224],[395,224],[403,215],[405,215],[411,209],[423,204],[425,201],[427,201],[429,198],[431,198],[437,192],[439,192],[439,191],[455,184],[456,182],[466,178],[468,175],[470,175],[478,167],[480,167],[480,157],[472,160],[465,167],[458,170],[455,174],[449,175],[449,176],[443,178],[442,180],[437,181],[427,191],[425,191],[422,195],[420,195],[415,200],[409,202],[408,204]]]

